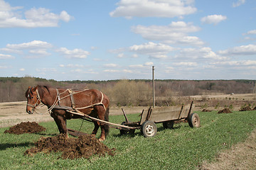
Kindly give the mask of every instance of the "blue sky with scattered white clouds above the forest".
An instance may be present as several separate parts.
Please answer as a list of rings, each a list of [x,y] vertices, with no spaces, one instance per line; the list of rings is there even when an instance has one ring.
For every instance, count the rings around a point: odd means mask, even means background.
[[[0,77],[256,79],[256,0],[0,0]]]

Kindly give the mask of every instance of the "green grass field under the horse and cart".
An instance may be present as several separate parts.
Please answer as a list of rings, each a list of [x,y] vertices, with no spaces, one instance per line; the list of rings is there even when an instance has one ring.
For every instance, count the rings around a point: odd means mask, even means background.
[[[139,114],[128,115],[132,121]],[[188,123],[175,124],[173,130],[157,124],[155,137],[145,138],[139,130],[134,136],[119,135],[111,129],[104,142],[117,149],[114,157],[91,159],[58,159],[60,154],[23,156],[40,137],[58,134],[54,122],[39,123],[47,130],[40,134],[4,134],[0,128],[0,169],[196,169],[203,161],[212,162],[223,149],[242,142],[256,128],[256,111],[217,114],[201,113],[201,128],[190,128]],[[110,122],[122,123],[122,115],[110,116]],[[79,130],[82,120],[68,120],[68,128]],[[92,123],[83,123],[82,131],[90,133]],[[100,132],[98,132],[100,135]]]

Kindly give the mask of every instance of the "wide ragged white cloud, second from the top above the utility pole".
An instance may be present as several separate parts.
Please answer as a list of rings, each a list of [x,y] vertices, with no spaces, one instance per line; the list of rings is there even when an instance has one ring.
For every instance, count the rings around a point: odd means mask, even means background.
[[[171,22],[168,26],[134,26],[132,31],[142,35],[146,40],[159,40],[168,44],[179,45],[203,45],[203,41],[198,37],[189,36],[201,30],[193,23],[185,23],[183,21]]]

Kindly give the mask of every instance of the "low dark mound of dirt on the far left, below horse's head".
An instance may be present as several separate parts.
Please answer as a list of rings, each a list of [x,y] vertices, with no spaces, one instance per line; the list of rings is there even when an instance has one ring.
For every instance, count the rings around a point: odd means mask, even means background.
[[[14,125],[13,127],[9,128],[9,130],[4,131],[4,133],[11,133],[20,135],[23,133],[37,133],[46,130],[43,126],[38,125],[36,122],[26,122],[26,123],[19,123]]]

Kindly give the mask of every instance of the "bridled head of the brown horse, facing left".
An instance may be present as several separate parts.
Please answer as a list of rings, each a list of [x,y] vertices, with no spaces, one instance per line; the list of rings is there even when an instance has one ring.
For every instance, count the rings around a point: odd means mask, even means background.
[[[25,95],[27,98],[26,112],[28,114],[33,114],[33,111],[35,111],[36,106],[38,106],[41,103],[41,98],[38,94],[38,86],[29,86]]]

